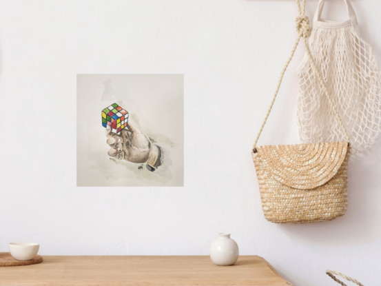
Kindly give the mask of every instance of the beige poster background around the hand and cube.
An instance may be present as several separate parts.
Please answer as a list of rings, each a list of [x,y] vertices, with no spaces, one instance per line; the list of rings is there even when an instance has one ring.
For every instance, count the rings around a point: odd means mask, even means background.
[[[107,155],[101,110],[112,103],[125,108],[130,122],[163,147],[166,174]],[[184,185],[182,74],[78,74],[76,122],[77,186]]]

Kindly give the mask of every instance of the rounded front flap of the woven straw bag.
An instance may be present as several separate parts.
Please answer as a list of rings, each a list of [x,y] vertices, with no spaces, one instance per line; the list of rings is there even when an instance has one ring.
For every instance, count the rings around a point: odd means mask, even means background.
[[[252,152],[254,163],[276,181],[294,189],[311,190],[335,176],[347,155],[348,142],[265,145],[256,150]]]

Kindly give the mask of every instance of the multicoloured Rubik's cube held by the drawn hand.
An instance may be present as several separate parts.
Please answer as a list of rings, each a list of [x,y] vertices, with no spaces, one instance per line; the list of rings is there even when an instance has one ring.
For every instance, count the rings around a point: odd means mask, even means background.
[[[108,108],[102,110],[102,125],[107,127],[109,125],[112,128],[112,132],[119,134],[123,130],[128,122],[128,112],[116,103],[110,105]]]

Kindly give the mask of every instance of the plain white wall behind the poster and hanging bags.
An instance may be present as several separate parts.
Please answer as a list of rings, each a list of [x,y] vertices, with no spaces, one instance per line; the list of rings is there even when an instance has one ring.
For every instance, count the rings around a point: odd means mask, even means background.
[[[317,0],[307,0],[311,17]],[[329,0],[330,19],[344,18]],[[334,3],[332,3],[334,2]],[[381,61],[381,1],[353,0]],[[265,221],[250,147],[296,37],[291,0],[0,1],[0,251],[208,254],[231,232],[295,285],[378,285],[381,145],[351,159],[349,210]],[[262,143],[298,142],[286,76]],[[185,74],[185,187],[76,187],[76,74]]]

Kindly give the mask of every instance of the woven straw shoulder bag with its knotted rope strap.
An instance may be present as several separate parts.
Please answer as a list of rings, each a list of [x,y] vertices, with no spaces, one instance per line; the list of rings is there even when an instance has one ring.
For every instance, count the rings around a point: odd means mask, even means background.
[[[301,3],[300,0],[296,0],[296,3],[299,10],[299,16],[296,18],[298,38],[280,74],[276,92],[251,150],[262,209],[267,221],[272,223],[331,221],[347,212],[347,176],[351,150],[349,136],[309,52],[307,37],[311,30],[309,19],[304,14],[305,0]],[[346,141],[257,147],[260,133],[274,105],[283,75],[294,56],[300,38],[304,41],[311,66],[344,132]]]

